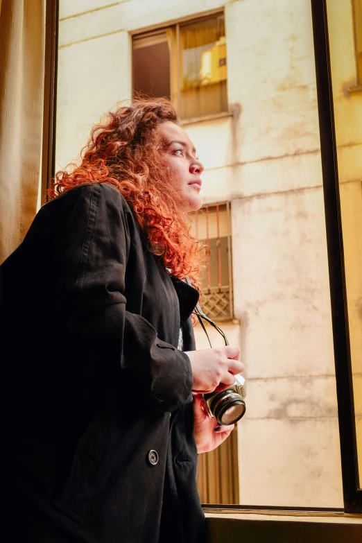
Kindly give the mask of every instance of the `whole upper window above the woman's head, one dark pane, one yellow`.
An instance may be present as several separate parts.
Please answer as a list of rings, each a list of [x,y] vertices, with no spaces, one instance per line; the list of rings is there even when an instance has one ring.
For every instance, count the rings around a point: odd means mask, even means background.
[[[171,98],[181,119],[227,111],[223,13],[135,35],[133,94]]]

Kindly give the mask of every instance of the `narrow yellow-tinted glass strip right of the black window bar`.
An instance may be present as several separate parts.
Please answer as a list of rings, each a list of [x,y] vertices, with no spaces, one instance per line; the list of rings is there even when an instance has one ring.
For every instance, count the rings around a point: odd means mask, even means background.
[[[354,0],[354,8],[360,5]],[[362,469],[362,93],[357,83],[351,3],[327,1],[331,82],[345,258],[347,311],[356,415],[357,452]],[[362,40],[362,28],[359,29]],[[362,53],[362,50],[361,50]],[[347,82],[347,85],[346,85]]]

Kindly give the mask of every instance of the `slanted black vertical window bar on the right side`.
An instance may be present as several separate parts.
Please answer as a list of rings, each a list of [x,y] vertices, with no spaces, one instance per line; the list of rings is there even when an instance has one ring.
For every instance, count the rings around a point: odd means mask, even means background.
[[[362,512],[356,446],[327,0],[311,0],[344,510]],[[361,466],[362,468],[362,466]]]

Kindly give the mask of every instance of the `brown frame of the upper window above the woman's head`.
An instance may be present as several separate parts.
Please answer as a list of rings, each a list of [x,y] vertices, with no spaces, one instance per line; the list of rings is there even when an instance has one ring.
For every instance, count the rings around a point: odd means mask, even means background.
[[[180,104],[181,104],[181,86],[180,86],[180,26],[184,26],[185,24],[192,24],[196,22],[202,22],[207,19],[211,19],[212,17],[217,17],[218,15],[223,15],[225,20],[225,10],[224,9],[217,9],[217,10],[210,10],[206,13],[202,13],[202,15],[199,16],[190,16],[190,17],[184,17],[182,19],[177,19],[175,21],[169,21],[169,24],[160,24],[160,25],[153,25],[148,28],[143,28],[141,30],[137,30],[134,32],[130,32],[130,38],[131,38],[131,57],[133,54],[133,41],[137,39],[141,39],[143,37],[148,37],[157,33],[161,33],[162,31],[166,32],[168,29],[174,29],[175,31],[175,43],[171,43],[171,51],[170,51],[170,97],[171,102],[173,103],[175,110],[178,112],[178,115],[180,115]],[[175,51],[173,48],[175,47]],[[175,58],[175,62],[173,62],[173,58]],[[132,94],[133,94],[133,86],[134,86],[134,76],[133,76],[133,60],[131,60],[131,85],[132,85]],[[227,93],[227,80],[226,79],[226,93]],[[227,93],[227,110],[223,112],[218,113],[211,113],[207,115],[200,115],[200,117],[192,117],[191,119],[188,118],[182,118],[180,119],[182,124],[187,124],[189,121],[197,122],[198,119],[204,119],[207,117],[207,119],[212,119],[214,117],[223,117],[225,115],[230,115],[230,109],[229,109],[229,98]]]

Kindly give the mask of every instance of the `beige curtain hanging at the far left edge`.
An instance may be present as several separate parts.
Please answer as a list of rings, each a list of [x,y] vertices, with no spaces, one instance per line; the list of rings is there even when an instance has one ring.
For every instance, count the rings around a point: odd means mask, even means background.
[[[0,263],[37,211],[45,1],[0,0]]]

